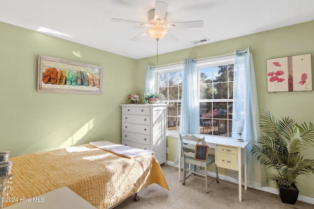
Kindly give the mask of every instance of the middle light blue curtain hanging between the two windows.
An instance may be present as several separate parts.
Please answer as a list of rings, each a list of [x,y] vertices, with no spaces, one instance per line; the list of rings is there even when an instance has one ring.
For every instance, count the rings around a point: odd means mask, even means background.
[[[197,98],[197,69],[193,58],[184,59],[182,100],[180,115],[180,134],[199,134],[199,105]]]

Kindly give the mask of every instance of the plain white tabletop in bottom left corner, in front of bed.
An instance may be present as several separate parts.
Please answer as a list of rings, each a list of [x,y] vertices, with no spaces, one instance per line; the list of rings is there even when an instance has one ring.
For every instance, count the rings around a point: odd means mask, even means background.
[[[5,209],[96,209],[66,186],[30,199],[18,198],[19,203]]]

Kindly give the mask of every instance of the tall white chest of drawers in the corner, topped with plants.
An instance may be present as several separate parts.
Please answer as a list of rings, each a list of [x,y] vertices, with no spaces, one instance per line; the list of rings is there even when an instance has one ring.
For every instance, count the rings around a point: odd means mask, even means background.
[[[122,104],[122,144],[155,152],[166,163],[166,104]]]

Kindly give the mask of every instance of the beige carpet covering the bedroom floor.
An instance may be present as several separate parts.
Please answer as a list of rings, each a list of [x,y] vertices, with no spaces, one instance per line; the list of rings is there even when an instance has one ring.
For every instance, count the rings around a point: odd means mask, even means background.
[[[205,193],[205,180],[189,177],[185,186],[178,181],[178,168],[161,165],[169,191],[153,184],[138,192],[115,209],[314,209],[314,205],[297,201],[295,205],[282,203],[279,195],[242,187],[242,202],[238,201],[238,185],[220,180],[209,185]],[[209,177],[209,180],[212,178]]]

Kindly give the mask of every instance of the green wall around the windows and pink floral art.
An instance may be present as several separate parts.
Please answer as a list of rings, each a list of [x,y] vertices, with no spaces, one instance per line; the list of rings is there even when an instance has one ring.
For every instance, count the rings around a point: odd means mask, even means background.
[[[267,108],[276,117],[289,116],[298,122],[314,122],[314,92],[283,92],[267,93],[266,86],[266,59],[284,57],[290,55],[312,53],[314,55],[314,21],[278,28],[252,35],[220,41],[202,46],[196,46],[180,51],[158,55],[158,65],[182,62],[184,58],[206,58],[232,53],[235,49],[251,48],[254,66],[258,103],[260,112]],[[210,40],[210,34],[208,35]],[[159,41],[162,48],[162,40]],[[147,65],[157,65],[155,57],[149,57],[136,61],[137,88],[145,86],[145,70]],[[312,69],[314,64],[312,64]],[[312,78],[313,79],[313,78]],[[169,153],[167,160],[174,161],[177,145],[175,138],[167,138]],[[304,157],[314,159],[314,148],[304,150]],[[220,169],[221,170],[221,169]],[[314,175],[300,176],[297,179],[301,195],[314,198]],[[311,182],[311,184],[309,184]],[[270,185],[274,187],[274,185]]]

